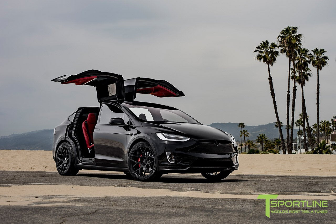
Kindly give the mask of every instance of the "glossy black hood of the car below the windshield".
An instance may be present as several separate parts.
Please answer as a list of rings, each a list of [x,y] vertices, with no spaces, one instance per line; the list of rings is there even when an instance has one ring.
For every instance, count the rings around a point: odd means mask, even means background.
[[[146,123],[149,124],[149,123]],[[186,136],[188,138],[194,139],[196,141],[199,140],[225,140],[231,142],[231,135],[226,134],[222,130],[219,130],[214,127],[210,127],[203,124],[191,124],[191,123],[150,123],[155,126],[158,130],[164,131],[172,131],[174,134],[176,133]],[[146,125],[147,126],[147,125]]]

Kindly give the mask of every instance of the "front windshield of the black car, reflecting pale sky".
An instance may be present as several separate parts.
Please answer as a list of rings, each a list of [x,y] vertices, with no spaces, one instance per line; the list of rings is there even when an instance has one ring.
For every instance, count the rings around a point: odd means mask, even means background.
[[[144,121],[198,124],[194,118],[177,109],[173,110],[147,106],[134,106],[129,104],[123,105],[126,106],[137,118]]]

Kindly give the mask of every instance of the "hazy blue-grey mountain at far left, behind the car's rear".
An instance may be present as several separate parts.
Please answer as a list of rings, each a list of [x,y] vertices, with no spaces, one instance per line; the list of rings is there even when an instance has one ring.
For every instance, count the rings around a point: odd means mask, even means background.
[[[51,150],[53,129],[0,137],[0,149]]]

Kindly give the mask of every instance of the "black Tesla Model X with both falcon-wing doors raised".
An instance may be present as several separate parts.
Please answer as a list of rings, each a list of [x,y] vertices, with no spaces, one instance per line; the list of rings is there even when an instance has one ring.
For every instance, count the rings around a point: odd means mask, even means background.
[[[80,107],[55,127],[52,153],[60,175],[122,171],[137,180],[167,173],[201,173],[221,180],[238,169],[235,138],[186,113],[134,101],[137,94],[185,96],[164,80],[89,70],[52,81],[94,86],[99,107]]]

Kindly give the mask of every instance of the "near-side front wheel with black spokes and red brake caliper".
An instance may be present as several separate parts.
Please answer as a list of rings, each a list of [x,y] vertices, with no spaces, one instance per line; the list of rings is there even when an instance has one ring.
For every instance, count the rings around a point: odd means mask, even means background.
[[[133,179],[149,181],[162,176],[158,171],[158,159],[154,149],[147,142],[138,142],[132,147],[127,164]]]

